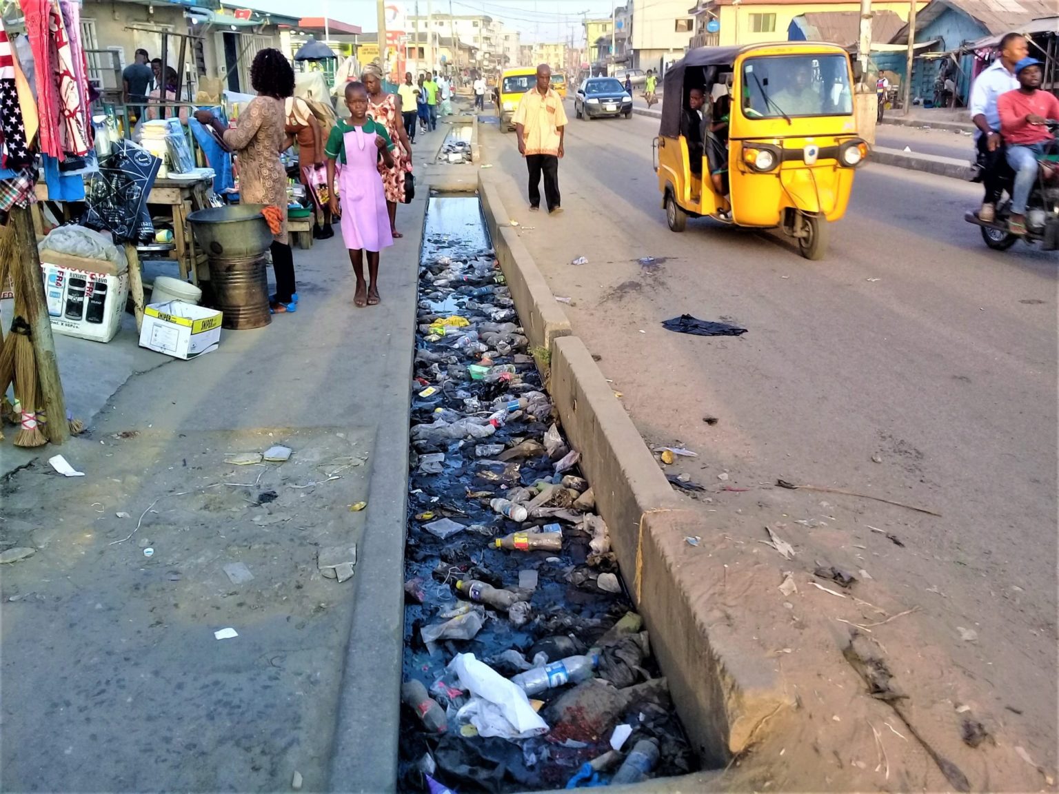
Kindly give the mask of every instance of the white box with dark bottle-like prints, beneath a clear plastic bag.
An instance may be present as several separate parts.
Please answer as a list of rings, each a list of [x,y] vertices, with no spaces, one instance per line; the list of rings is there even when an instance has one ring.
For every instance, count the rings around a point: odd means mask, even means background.
[[[52,330],[96,342],[113,339],[128,301],[128,269],[53,251],[41,251],[40,258]]]

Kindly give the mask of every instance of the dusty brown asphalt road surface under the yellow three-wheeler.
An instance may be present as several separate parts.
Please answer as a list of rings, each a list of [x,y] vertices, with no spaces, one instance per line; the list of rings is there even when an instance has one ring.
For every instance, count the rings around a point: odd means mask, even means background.
[[[921,608],[932,640],[1054,762],[1059,255],[988,250],[963,220],[977,185],[880,165],[859,173],[823,261],[708,219],[674,234],[651,168],[658,122],[569,115],[563,215],[526,212],[514,134],[483,127],[484,158],[513,175],[507,209],[641,434],[699,450],[692,471],[713,486],[722,470],[751,489],[780,476],[940,512],[858,517],[911,539],[872,553],[872,575]],[[589,265],[569,264],[579,255]],[[648,255],[667,259],[648,272]],[[750,330],[661,328],[683,312]],[[733,495],[717,495],[717,521],[738,519]]]

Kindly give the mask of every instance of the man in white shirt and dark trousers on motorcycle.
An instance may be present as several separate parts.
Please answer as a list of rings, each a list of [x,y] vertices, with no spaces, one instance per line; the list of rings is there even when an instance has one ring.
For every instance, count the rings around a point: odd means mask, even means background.
[[[1019,88],[1015,76],[1015,65],[1029,52],[1026,38],[1021,33],[1008,33],[1000,40],[1000,57],[984,70],[971,87],[971,121],[974,130],[974,145],[985,161],[982,181],[986,195],[979,211],[979,218],[991,223],[997,217],[997,202],[1001,186],[999,167],[1004,163],[1004,142],[1000,134],[1000,115],[997,100],[1001,94]]]

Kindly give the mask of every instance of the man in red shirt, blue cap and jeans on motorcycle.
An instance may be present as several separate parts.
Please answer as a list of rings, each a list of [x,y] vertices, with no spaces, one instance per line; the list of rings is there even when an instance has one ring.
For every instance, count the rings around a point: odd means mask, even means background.
[[[1015,172],[1011,191],[1011,234],[1026,233],[1026,201],[1037,180],[1038,159],[1044,144],[1053,140],[1045,126],[1048,119],[1059,120],[1059,100],[1041,90],[1041,61],[1023,58],[1015,65],[1020,88],[997,100],[1000,131],[1007,143],[1007,163]]]

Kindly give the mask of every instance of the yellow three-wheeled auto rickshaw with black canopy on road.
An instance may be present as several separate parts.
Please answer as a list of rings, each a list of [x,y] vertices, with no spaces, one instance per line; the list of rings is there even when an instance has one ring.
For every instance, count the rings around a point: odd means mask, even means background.
[[[808,259],[849,201],[868,146],[857,136],[841,47],[784,42],[692,50],[665,74],[654,170],[666,221],[710,216],[779,227]],[[693,89],[702,92],[692,108]],[[699,96],[696,95],[699,102]]]

